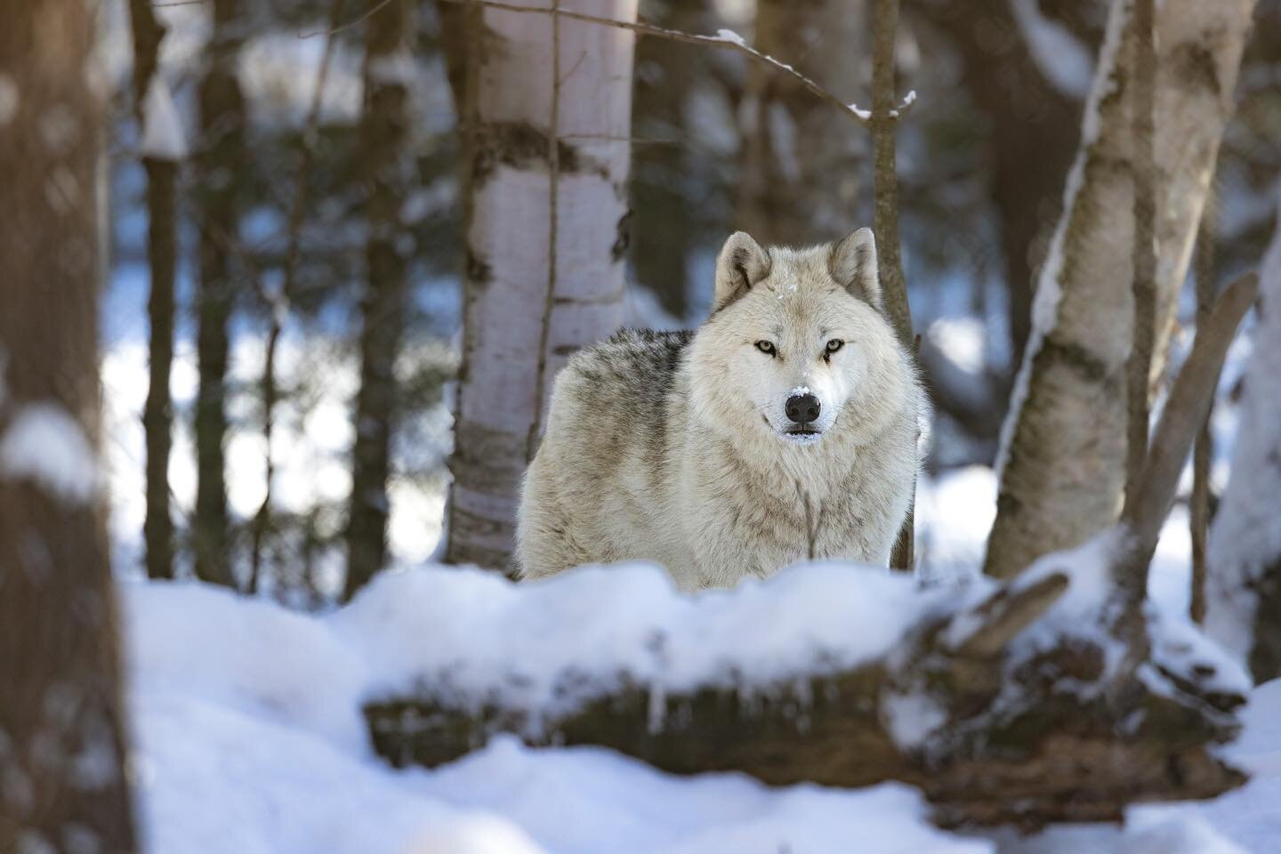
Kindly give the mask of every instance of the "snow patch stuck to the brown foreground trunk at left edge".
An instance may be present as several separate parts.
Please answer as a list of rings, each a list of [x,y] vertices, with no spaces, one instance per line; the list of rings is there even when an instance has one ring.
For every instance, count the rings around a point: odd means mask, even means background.
[[[55,497],[86,503],[100,483],[97,455],[79,424],[56,403],[28,403],[0,434],[0,478],[29,480]]]

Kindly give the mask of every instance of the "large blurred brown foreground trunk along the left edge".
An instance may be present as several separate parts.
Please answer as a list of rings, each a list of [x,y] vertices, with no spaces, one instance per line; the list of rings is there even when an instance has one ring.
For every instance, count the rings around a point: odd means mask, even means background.
[[[0,850],[131,851],[96,452],[94,18],[6,0],[0,19]]]

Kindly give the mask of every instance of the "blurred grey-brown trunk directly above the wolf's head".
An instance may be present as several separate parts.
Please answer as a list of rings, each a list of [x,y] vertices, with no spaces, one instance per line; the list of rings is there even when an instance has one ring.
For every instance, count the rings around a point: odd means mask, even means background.
[[[760,0],[755,47],[790,63],[845,102],[866,88],[863,0]],[[667,50],[667,47],[664,47]],[[747,69],[748,125],[743,132],[738,223],[761,243],[808,246],[839,239],[857,223],[862,132],[765,63]],[[877,251],[884,252],[876,233]]]

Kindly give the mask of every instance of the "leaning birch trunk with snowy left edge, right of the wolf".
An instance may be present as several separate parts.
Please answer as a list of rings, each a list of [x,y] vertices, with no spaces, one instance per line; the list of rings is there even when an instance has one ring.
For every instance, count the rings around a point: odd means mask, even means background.
[[[1231,113],[1252,0],[1167,0],[1157,14],[1157,311],[1153,375]],[[1006,420],[984,571],[1008,577],[1117,519],[1125,481],[1125,370],[1134,241],[1131,6],[1117,0],[1032,307]]]

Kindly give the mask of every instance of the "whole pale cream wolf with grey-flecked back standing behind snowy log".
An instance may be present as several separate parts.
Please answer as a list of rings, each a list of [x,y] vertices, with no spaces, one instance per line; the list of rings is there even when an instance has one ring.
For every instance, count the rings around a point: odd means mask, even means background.
[[[518,576],[644,560],[698,590],[804,558],[884,566],[927,416],[870,229],[801,250],[738,232],[697,330],[624,330],[557,375]]]

